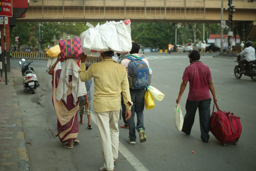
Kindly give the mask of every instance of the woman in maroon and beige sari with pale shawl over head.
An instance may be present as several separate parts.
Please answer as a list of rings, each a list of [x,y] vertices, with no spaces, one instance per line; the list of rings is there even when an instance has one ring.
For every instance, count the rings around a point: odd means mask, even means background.
[[[56,62],[51,66],[49,74],[53,76],[53,105],[57,115],[57,128],[61,142],[65,143],[65,148],[73,148],[73,142],[79,143],[76,139],[78,135],[79,97],[85,96],[85,106],[88,107],[88,98],[85,84],[81,82],[79,69],[75,59],[68,58],[63,62],[62,69],[54,70],[61,60],[61,53]]]

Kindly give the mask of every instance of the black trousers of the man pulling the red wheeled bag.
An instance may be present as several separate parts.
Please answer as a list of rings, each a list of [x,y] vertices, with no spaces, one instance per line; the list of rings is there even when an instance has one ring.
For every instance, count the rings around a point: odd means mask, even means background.
[[[211,98],[201,101],[189,101],[186,103],[186,115],[184,117],[184,123],[182,131],[186,134],[191,133],[192,126],[194,124],[195,112],[198,108],[199,111],[199,122],[201,130],[201,139],[203,141],[209,140],[209,129],[210,129],[210,104]]]

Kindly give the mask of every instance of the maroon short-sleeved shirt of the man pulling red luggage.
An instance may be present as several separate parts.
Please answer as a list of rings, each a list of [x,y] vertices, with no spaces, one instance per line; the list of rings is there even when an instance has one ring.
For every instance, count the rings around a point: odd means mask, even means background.
[[[211,72],[207,65],[200,61],[192,62],[186,67],[182,79],[189,81],[190,101],[201,101],[211,98],[208,81],[212,80]]]

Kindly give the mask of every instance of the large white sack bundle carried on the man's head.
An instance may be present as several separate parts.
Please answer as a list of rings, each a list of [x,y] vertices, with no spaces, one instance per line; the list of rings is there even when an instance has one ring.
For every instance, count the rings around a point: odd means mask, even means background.
[[[117,53],[129,52],[132,49],[131,21],[110,21],[95,28],[90,28],[80,34],[84,54],[89,52],[104,52],[113,50]]]

